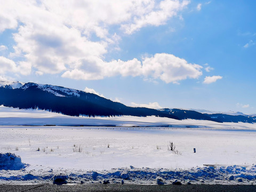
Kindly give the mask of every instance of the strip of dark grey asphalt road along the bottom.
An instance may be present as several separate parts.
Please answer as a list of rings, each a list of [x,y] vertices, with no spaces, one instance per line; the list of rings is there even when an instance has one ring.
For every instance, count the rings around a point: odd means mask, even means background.
[[[252,185],[121,185],[121,184],[78,184],[78,185],[0,185],[0,191],[190,191],[190,192],[205,192],[205,191],[232,191],[232,192],[243,192],[243,191],[256,191],[256,186]]]

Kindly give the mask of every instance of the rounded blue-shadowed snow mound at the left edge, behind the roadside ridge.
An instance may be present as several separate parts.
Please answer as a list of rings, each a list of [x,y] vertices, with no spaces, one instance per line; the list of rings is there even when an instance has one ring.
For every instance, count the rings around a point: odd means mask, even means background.
[[[21,162],[20,156],[11,153],[0,153],[0,170],[20,170],[25,167],[26,165]]]

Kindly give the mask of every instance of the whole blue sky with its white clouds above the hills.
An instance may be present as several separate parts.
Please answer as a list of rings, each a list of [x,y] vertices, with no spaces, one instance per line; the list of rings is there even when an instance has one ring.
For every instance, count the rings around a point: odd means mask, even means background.
[[[254,1],[3,1],[0,78],[128,106],[256,113]]]

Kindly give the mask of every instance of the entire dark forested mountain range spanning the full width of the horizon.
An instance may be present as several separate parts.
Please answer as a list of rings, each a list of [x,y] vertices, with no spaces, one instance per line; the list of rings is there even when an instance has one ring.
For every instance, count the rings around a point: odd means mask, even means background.
[[[62,86],[0,81],[0,105],[20,109],[38,108],[70,116],[159,116],[174,119],[202,119],[214,122],[256,123],[255,115],[242,113],[200,113],[187,109],[129,107],[93,93]]]

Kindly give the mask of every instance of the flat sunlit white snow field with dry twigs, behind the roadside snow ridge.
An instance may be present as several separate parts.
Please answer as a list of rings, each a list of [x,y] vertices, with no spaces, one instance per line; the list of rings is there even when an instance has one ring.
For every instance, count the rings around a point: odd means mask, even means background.
[[[15,153],[30,165],[68,169],[103,170],[130,165],[186,169],[204,164],[254,164],[255,136],[254,131],[157,127],[15,127],[0,129],[0,150],[1,153]],[[170,141],[181,155],[167,150]]]

